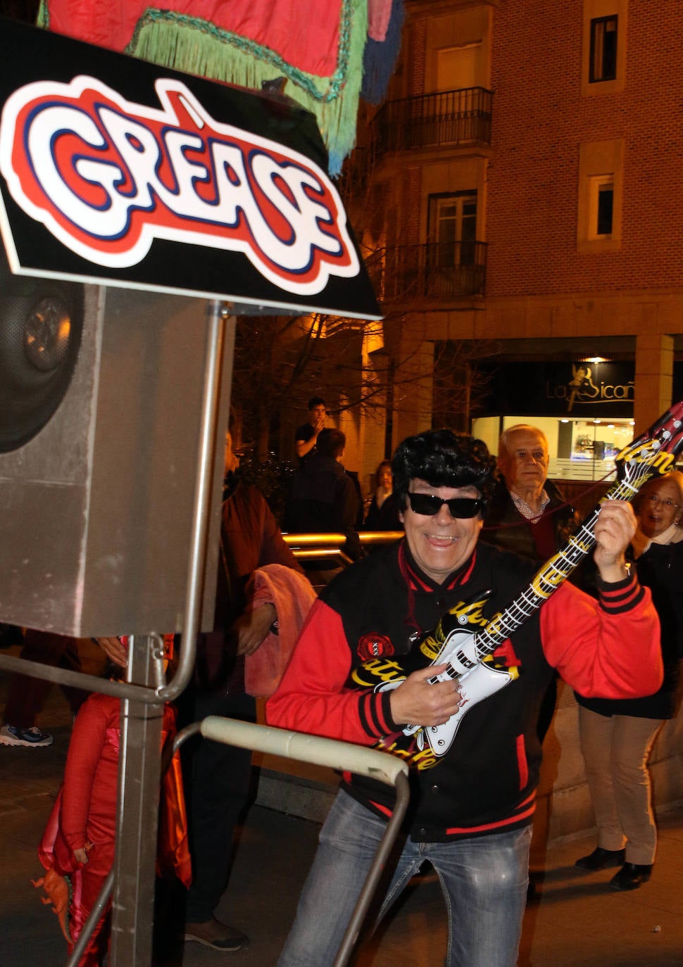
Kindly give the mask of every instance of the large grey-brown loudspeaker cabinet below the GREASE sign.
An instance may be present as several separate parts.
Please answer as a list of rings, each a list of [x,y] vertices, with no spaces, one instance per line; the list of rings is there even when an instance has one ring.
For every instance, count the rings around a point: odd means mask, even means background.
[[[19,278],[0,246],[0,621],[182,630],[206,301]],[[226,339],[201,625],[213,619]]]

